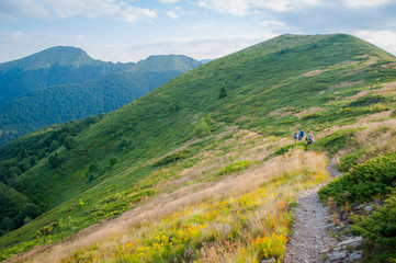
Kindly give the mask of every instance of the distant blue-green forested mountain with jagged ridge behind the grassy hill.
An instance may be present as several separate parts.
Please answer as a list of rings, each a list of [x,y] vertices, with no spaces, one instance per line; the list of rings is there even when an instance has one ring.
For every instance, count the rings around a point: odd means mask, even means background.
[[[64,46],[1,64],[0,145],[52,124],[114,111],[200,65],[180,55],[103,62]]]

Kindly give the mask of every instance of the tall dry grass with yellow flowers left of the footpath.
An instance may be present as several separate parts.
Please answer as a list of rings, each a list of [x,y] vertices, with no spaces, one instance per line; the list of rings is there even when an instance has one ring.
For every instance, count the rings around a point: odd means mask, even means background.
[[[120,229],[91,248],[75,243],[79,250],[66,262],[282,259],[292,224],[288,204],[298,191],[325,179],[326,158],[296,150],[196,193],[173,201],[161,196],[138,211],[149,224],[129,214],[128,222],[124,218]]]

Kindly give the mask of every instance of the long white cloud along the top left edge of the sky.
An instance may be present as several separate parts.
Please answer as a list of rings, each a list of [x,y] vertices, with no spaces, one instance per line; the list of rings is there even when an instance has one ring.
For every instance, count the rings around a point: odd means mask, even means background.
[[[2,0],[7,8],[1,13],[12,16],[60,18],[111,16],[126,22],[157,18],[146,8],[133,7],[123,0]]]

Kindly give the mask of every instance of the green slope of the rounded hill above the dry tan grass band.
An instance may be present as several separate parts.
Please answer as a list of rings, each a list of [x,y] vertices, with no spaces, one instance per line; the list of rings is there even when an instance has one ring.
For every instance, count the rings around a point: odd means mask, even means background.
[[[79,134],[73,147],[58,148],[57,165],[50,164],[53,153],[20,175],[21,193],[45,213],[0,238],[2,256],[68,237],[161,194],[267,165],[299,147],[285,146],[298,127],[324,137],[317,150],[333,155],[348,141],[342,133],[328,139],[331,128],[359,127],[374,114],[392,119],[395,93],[383,89],[396,80],[395,65],[394,56],[350,35],[283,35],[191,70],[108,114]],[[253,155],[254,147],[260,151]],[[203,169],[205,155],[215,163]],[[305,178],[315,170],[304,169],[298,174]],[[273,183],[294,175],[282,176]],[[206,241],[178,247],[180,254]]]

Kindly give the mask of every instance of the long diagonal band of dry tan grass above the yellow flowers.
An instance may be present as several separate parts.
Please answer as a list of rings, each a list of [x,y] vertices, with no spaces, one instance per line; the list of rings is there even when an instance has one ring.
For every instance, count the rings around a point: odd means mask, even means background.
[[[246,136],[242,138],[245,139],[244,141],[248,141],[251,138],[256,138],[254,136],[257,135],[253,133],[246,133]],[[231,144],[231,141],[228,144]],[[263,142],[263,145],[265,144]],[[210,156],[207,158],[210,158]],[[139,236],[142,235],[142,230],[134,229],[149,221],[159,220],[185,207],[201,204],[207,199],[219,201],[227,196],[230,197],[250,192],[270,182],[272,178],[285,172],[291,173],[302,168],[318,168],[325,170],[326,161],[327,158],[323,155],[296,150],[284,157],[273,158],[265,163],[254,164],[241,174],[226,176],[215,183],[194,183],[180,187],[174,192],[160,194],[155,199],[131,211],[126,211],[118,218],[89,227],[73,238],[49,245],[44,251],[43,249],[34,250],[26,254],[27,256],[10,259],[9,262],[60,262],[76,251],[88,249],[94,244],[101,248],[109,248],[116,243],[126,242],[129,233],[125,236],[125,232],[133,231],[134,237]],[[181,172],[181,174],[189,176],[185,173],[186,172]],[[284,188],[283,192],[284,194],[282,195],[288,196],[293,191]],[[279,207],[279,203],[274,203],[274,207],[265,209],[275,210],[276,207]],[[251,228],[252,231],[254,231],[254,228],[260,228],[260,220],[254,220],[254,217],[252,217]],[[116,237],[116,239],[114,239],[114,237]]]

